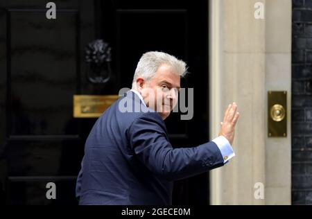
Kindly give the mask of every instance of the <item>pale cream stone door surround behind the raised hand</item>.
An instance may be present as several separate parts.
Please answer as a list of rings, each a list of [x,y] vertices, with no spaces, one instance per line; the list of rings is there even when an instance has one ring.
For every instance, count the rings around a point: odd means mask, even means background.
[[[254,3],[265,19],[254,18]],[[236,157],[211,171],[211,204],[291,204],[291,0],[209,1],[210,137],[235,101]],[[288,91],[288,137],[267,137],[267,92]],[[264,199],[254,198],[263,183]]]

